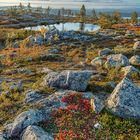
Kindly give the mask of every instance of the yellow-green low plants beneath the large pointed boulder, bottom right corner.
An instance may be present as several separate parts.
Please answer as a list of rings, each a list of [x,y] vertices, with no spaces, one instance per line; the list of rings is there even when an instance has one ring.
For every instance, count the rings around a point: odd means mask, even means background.
[[[140,121],[122,119],[106,110],[100,115],[99,121],[103,126],[100,138],[108,137],[111,140],[138,140],[140,138]]]

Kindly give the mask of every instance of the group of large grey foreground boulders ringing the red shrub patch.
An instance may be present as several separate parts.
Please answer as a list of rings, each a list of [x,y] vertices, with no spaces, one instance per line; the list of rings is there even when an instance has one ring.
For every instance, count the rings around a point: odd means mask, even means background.
[[[48,71],[43,85],[56,88],[57,91],[49,96],[40,94],[40,91],[27,91],[25,104],[38,105],[40,108],[29,109],[19,114],[11,124],[5,125],[0,139],[53,140],[53,134],[43,130],[39,124],[50,120],[53,110],[65,108],[66,103],[62,102],[62,98],[72,92],[79,92],[89,100],[95,113],[100,113],[106,108],[121,118],[140,118],[140,88],[131,80],[124,77],[106,99],[86,91],[91,76],[92,71]]]

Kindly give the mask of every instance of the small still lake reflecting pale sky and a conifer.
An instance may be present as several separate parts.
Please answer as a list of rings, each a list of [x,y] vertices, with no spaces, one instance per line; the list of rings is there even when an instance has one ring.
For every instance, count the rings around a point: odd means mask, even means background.
[[[27,30],[35,30],[38,31],[41,28],[51,28],[55,26],[59,31],[84,31],[84,32],[92,32],[100,29],[99,25],[94,24],[85,24],[85,23],[60,23],[60,24],[51,24],[51,25],[38,25],[33,27],[26,27]]]

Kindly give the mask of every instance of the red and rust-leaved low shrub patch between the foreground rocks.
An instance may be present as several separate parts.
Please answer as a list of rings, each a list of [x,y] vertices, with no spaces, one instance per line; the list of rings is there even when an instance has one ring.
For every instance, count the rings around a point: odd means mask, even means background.
[[[67,103],[67,107],[59,108],[51,114],[55,140],[93,139],[93,124],[98,115],[95,116],[92,112],[90,101],[79,93],[71,93],[61,101]],[[52,127],[49,124],[45,125],[50,129]]]

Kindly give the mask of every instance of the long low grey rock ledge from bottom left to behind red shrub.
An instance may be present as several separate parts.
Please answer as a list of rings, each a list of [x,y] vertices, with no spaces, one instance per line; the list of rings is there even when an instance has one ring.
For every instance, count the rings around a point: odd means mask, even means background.
[[[13,123],[5,127],[5,132],[7,138],[19,138],[23,130],[25,130],[30,125],[38,125],[42,121],[50,119],[50,114],[52,111],[61,108],[65,108],[67,104],[62,101],[62,98],[66,97],[71,93],[77,93],[72,90],[60,90],[54,94],[39,99],[35,102],[35,105],[40,107],[39,110],[29,110],[21,113],[17,116]],[[84,98],[93,99],[94,96],[91,92],[80,92]],[[26,131],[26,130],[25,130]],[[27,133],[26,133],[27,134]],[[26,135],[24,135],[26,136]],[[26,138],[26,137],[25,137]],[[28,137],[27,137],[28,138]],[[30,138],[30,135],[29,135]]]

